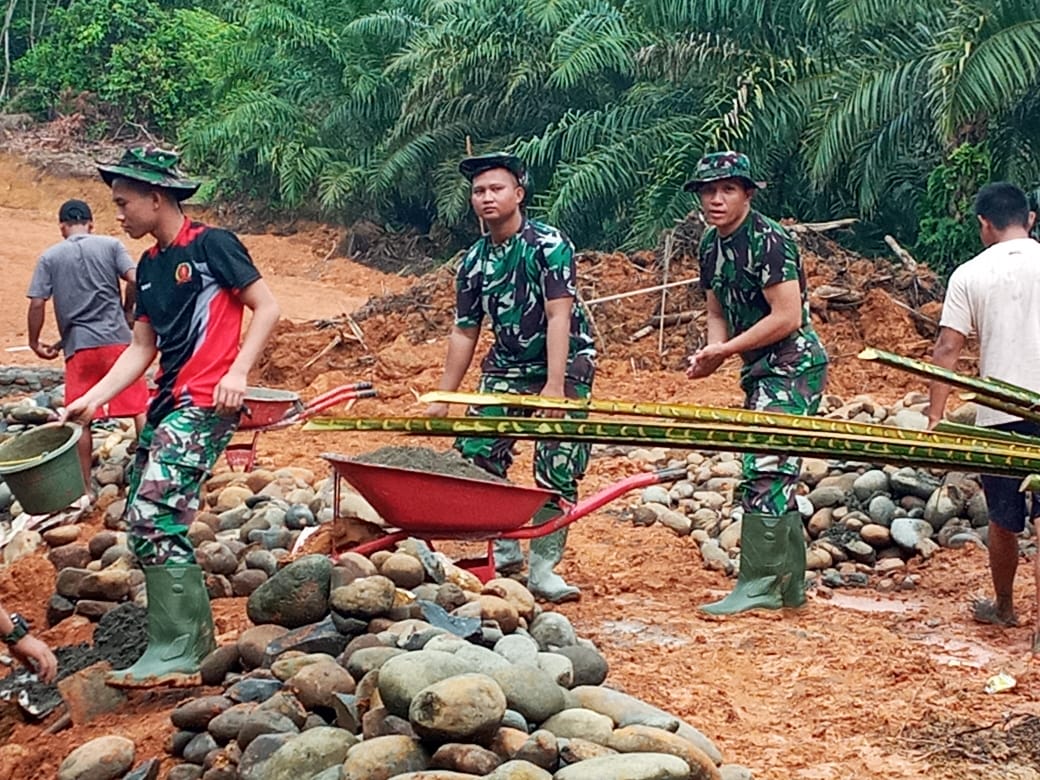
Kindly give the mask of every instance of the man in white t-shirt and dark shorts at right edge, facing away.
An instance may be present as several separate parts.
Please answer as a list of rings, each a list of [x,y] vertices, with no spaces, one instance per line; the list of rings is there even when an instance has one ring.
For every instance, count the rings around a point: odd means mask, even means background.
[[[953,369],[967,337],[979,337],[979,374],[1040,392],[1040,243],[1030,237],[1036,214],[1013,184],[988,184],[976,196],[974,212],[985,252],[964,263],[946,289],[932,361]],[[929,426],[942,419],[951,388],[930,387]],[[1040,436],[1040,425],[980,407],[977,424]],[[1012,592],[1018,568],[1018,534],[1025,529],[1025,494],[1018,479],[983,475],[989,508],[989,569],[996,598],[973,604],[983,623],[1017,625]],[[1038,495],[1037,497],[1040,497]],[[1030,514],[1040,515],[1040,501]],[[1036,561],[1040,593],[1040,556]],[[1037,617],[1040,632],[1040,615]]]

